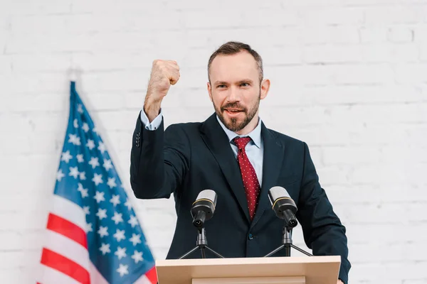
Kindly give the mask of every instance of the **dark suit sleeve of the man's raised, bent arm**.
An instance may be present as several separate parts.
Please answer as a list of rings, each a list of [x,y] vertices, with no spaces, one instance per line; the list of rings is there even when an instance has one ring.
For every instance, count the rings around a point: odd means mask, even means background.
[[[169,198],[189,170],[189,139],[179,125],[164,121],[148,130],[138,117],[130,155],[130,183],[139,199]]]

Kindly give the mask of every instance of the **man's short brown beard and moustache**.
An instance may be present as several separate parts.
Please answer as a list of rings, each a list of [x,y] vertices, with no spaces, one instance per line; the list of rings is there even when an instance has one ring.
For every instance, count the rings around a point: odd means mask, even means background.
[[[233,132],[241,131],[249,124],[249,122],[252,121],[253,117],[258,111],[258,107],[260,106],[260,96],[261,94],[259,94],[258,99],[256,100],[255,104],[251,106],[250,109],[243,107],[238,102],[224,104],[220,108],[216,107],[216,105],[214,104],[216,115],[218,116],[219,120],[221,120],[221,122],[226,126],[227,129]],[[236,117],[232,117],[229,121],[226,121],[226,118],[224,117],[223,112],[229,108],[240,109],[245,114],[245,117],[243,118],[243,120],[239,121],[239,119],[237,119]]]

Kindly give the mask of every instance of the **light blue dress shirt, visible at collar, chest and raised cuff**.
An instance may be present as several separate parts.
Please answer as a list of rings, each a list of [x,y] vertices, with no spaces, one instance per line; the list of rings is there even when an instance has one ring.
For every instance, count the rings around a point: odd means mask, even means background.
[[[144,124],[145,129],[153,131],[159,128],[160,124],[162,124],[162,110],[160,110],[160,114],[156,116],[156,118],[149,123],[149,119],[147,114],[145,114],[144,110],[141,111],[141,121]],[[219,120],[218,116],[216,116],[219,125],[221,125],[223,131],[226,133],[228,137],[228,142],[230,143],[231,150],[233,150],[234,157],[237,158],[238,148],[236,144],[233,142],[233,139],[236,137],[251,137],[252,141],[246,145],[245,151],[246,155],[248,155],[248,159],[251,162],[253,168],[255,169],[256,176],[258,177],[258,182],[260,182],[260,186],[263,185],[263,158],[264,158],[264,144],[263,139],[261,137],[261,119],[258,119],[258,125],[248,133],[247,135],[238,135],[237,133],[227,129],[226,126]]]

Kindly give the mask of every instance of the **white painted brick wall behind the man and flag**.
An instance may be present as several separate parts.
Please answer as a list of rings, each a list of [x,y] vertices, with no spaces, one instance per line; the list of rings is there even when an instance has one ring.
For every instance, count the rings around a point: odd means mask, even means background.
[[[201,121],[213,111],[206,62],[226,40],[264,58],[265,124],[310,146],[348,229],[351,283],[427,283],[426,0],[0,0],[2,283],[33,283],[37,273],[68,69],[80,70],[80,95],[130,190],[131,133],[152,60],[181,66],[166,124]],[[164,258],[173,201],[134,202]],[[299,230],[294,239],[304,246]]]

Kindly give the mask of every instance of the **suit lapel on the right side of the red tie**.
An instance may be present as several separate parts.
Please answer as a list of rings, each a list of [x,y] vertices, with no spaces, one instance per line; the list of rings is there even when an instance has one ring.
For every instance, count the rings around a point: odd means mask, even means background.
[[[264,143],[263,185],[261,186],[260,200],[251,227],[255,226],[259,221],[265,209],[271,207],[268,199],[268,190],[277,185],[276,182],[283,165],[284,146],[279,143],[272,131],[268,130],[264,124],[261,126],[261,136]]]

